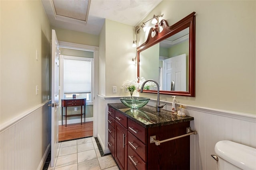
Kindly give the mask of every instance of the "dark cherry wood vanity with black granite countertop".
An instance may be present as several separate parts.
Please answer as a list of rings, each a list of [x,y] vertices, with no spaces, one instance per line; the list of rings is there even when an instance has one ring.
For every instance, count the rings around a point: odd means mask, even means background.
[[[108,104],[108,148],[121,170],[190,169],[190,137],[185,135],[193,117],[152,106],[130,109]],[[152,141],[152,139],[154,139]]]

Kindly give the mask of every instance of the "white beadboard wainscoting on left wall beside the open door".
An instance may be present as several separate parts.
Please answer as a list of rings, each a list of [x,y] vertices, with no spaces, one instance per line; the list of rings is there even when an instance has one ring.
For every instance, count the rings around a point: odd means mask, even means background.
[[[1,170],[41,170],[50,151],[49,101],[0,129]]]

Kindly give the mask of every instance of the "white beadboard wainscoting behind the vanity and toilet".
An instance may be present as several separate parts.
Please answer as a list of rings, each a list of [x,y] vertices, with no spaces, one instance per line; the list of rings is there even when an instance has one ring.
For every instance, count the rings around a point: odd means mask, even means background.
[[[107,126],[107,104],[120,102],[120,97],[104,97],[99,96],[102,102],[101,111],[103,120],[99,120],[99,131],[105,129],[105,136],[98,133],[99,140],[103,144],[104,153],[109,152],[106,145],[108,140]],[[164,106],[164,109],[171,110],[170,102]],[[150,100],[150,106],[156,106],[156,100]],[[180,104],[178,104],[180,105]],[[190,122],[192,130],[198,132],[197,135],[190,136],[190,169],[191,170],[216,170],[216,161],[211,157],[215,154],[214,147],[218,141],[229,140],[236,143],[241,143],[250,147],[256,148],[256,115],[248,113],[237,113],[233,111],[224,111],[196,106],[186,106],[185,112],[187,115],[194,117],[194,121]],[[106,110],[104,110],[106,109]],[[180,151],[182,152],[182,150]]]

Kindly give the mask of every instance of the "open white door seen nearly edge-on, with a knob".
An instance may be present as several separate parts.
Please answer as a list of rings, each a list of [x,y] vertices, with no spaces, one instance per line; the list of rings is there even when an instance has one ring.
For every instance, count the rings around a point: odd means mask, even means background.
[[[59,141],[58,111],[59,111],[59,44],[55,30],[52,29],[52,141],[51,141],[51,166],[54,166],[57,157]]]

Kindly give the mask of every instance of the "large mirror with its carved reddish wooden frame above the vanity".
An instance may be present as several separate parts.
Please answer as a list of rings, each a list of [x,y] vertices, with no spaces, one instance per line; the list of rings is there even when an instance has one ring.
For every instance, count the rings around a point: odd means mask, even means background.
[[[160,94],[195,96],[195,14],[171,26],[161,20],[137,48],[137,76],[156,80]]]

